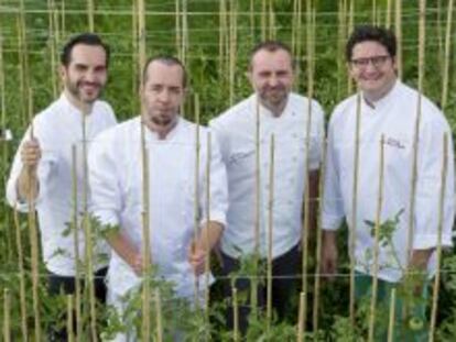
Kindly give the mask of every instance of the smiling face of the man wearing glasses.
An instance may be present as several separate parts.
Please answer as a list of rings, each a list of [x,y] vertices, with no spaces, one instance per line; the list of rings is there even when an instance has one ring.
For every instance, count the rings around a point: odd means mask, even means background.
[[[358,87],[376,100],[389,91],[397,78],[395,59],[387,47],[373,41],[354,46],[349,70]]]

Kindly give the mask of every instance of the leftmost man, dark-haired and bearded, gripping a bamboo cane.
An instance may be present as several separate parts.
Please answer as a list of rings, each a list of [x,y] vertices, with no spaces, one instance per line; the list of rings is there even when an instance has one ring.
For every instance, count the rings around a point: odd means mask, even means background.
[[[79,227],[87,205],[83,200],[87,184],[84,144],[87,143],[89,148],[98,132],[116,124],[111,107],[98,100],[107,81],[108,63],[109,48],[95,34],[80,34],[66,43],[59,67],[63,93],[33,119],[15,154],[8,180],[7,197],[12,207],[26,211],[33,201],[36,208],[52,295],[75,291],[77,263],[84,262],[85,239]],[[75,159],[73,151],[76,152]],[[76,194],[72,186],[74,181]],[[77,211],[78,225],[76,232],[68,233],[74,211]],[[105,301],[107,265],[100,258],[97,261],[97,254],[101,252],[107,251],[94,249],[91,272],[95,273],[96,296]],[[65,331],[55,332],[50,339],[65,340]]]

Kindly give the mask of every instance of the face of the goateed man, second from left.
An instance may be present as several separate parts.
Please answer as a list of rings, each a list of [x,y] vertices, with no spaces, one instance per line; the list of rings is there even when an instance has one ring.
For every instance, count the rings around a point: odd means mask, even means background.
[[[149,65],[141,97],[145,119],[154,125],[167,126],[176,119],[184,100],[183,77],[180,65],[167,65],[160,60]]]

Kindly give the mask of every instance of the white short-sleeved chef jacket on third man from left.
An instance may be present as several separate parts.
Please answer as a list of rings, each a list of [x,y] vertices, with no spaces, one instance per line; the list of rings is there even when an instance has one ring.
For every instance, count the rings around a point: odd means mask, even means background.
[[[260,246],[268,255],[271,136],[274,135],[274,197],[272,255],[289,252],[301,239],[302,208],[306,175],[319,167],[323,144],[324,113],[312,100],[290,93],[280,117],[260,106]],[[231,257],[250,254],[254,250],[256,229],[256,132],[257,95],[250,96],[220,117],[210,121],[220,143],[227,167],[229,207],[227,229],[221,236],[221,249]],[[306,152],[306,132],[310,148]]]

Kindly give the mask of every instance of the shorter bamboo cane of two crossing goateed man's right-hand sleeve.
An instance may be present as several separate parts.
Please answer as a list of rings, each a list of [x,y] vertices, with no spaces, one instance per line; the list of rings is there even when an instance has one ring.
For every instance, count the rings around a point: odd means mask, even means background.
[[[210,162],[213,156],[213,150],[211,150],[211,133],[207,133],[207,150],[206,150],[206,222],[210,222]],[[206,229],[206,246],[205,246],[207,257],[205,260],[204,264],[204,271],[205,271],[205,317],[206,322],[209,323],[209,279],[210,279],[210,247],[209,247],[209,230]]]

